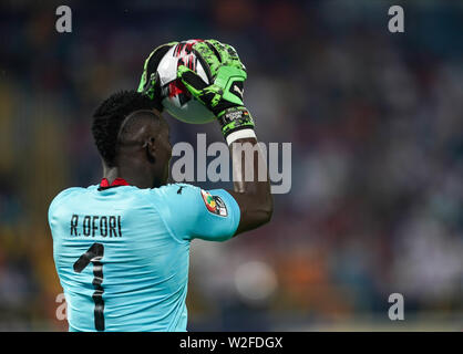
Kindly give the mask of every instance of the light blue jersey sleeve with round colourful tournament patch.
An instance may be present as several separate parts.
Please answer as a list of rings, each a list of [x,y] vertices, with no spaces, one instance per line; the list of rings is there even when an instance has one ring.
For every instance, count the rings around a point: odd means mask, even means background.
[[[204,190],[192,185],[162,187],[160,212],[178,240],[225,241],[239,225],[240,210],[225,189]]]

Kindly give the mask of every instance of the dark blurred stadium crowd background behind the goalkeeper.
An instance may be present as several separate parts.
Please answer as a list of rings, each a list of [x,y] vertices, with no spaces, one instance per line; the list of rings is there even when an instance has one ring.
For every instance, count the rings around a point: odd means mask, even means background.
[[[258,136],[292,143],[292,188],[270,225],[194,242],[189,330],[463,329],[463,2],[7,0],[0,29],[0,330],[66,330],[48,205],[101,178],[94,107],[191,38],[237,49]],[[173,143],[220,139],[168,122]]]

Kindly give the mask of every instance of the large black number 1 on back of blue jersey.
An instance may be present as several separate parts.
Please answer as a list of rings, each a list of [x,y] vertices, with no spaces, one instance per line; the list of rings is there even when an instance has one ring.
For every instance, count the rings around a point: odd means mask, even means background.
[[[93,281],[92,285],[95,292],[92,299],[95,303],[95,329],[96,331],[104,331],[104,301],[103,301],[103,264],[101,262],[104,254],[104,247],[101,243],[93,243],[85,253],[83,253],[74,263],[74,272],[82,272],[86,266],[93,263]]]

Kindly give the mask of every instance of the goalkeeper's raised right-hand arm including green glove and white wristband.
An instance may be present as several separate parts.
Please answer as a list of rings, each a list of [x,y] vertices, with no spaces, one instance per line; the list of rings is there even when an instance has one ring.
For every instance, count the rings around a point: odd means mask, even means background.
[[[253,117],[243,103],[246,67],[233,46],[216,40],[196,43],[193,49],[212,84],[184,65],[178,66],[177,74],[192,95],[215,114],[229,145],[234,190],[228,192],[240,209],[238,235],[268,222],[274,210],[266,160]]]

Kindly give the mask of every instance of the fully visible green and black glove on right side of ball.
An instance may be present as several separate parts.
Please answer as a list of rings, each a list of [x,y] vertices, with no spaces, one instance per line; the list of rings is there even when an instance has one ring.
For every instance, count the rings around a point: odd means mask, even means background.
[[[254,128],[253,117],[243,103],[246,67],[236,50],[216,40],[198,42],[193,45],[193,50],[212,84],[205,83],[185,65],[179,65],[177,76],[189,93],[214,113],[225,137],[240,129]]]

